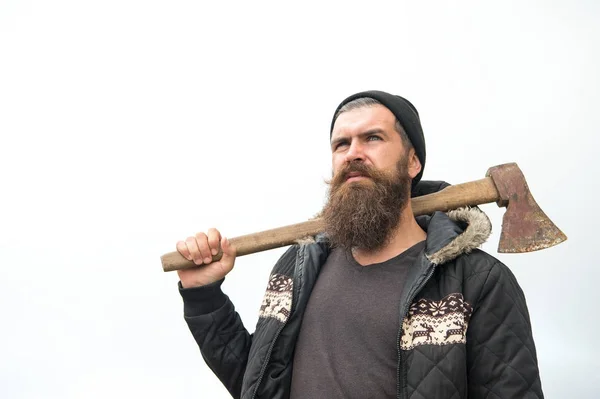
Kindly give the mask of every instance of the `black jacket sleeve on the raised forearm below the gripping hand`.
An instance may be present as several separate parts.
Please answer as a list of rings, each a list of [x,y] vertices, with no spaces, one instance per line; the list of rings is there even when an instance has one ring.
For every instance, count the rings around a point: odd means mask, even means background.
[[[233,303],[221,291],[224,280],[182,288],[185,321],[208,367],[234,398],[239,398],[252,335],[244,328]]]

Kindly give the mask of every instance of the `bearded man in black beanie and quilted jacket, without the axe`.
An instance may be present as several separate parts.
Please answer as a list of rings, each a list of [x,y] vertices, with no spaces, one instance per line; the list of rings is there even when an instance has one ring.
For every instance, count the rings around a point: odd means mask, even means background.
[[[241,398],[542,398],[525,298],[476,249],[478,209],[413,216],[425,141],[415,107],[370,91],[331,126],[325,234],[277,262],[255,332],[221,283],[235,248],[211,229],[177,250],[184,315],[208,366]],[[211,255],[223,251],[220,261]]]

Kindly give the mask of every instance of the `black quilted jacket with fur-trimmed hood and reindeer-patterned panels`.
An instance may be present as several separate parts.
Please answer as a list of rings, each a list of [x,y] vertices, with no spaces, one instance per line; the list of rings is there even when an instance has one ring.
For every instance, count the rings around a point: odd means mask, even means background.
[[[477,208],[417,218],[426,247],[398,306],[397,397],[543,398],[525,297],[511,271],[476,249],[490,234]],[[324,237],[290,247],[275,265],[253,334],[222,280],[181,289],[185,320],[207,365],[235,398],[288,398],[295,342]]]

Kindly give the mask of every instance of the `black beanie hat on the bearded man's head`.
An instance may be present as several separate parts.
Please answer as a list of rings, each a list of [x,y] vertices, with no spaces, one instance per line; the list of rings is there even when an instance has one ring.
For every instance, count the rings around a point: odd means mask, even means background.
[[[421,161],[421,171],[415,176],[412,182],[412,186],[414,187],[419,180],[421,180],[421,176],[423,176],[423,170],[425,170],[425,137],[423,136],[423,129],[421,128],[419,113],[417,112],[415,106],[412,105],[407,99],[379,90],[363,91],[353,94],[342,101],[335,110],[335,113],[333,114],[333,120],[331,121],[329,137],[331,137],[331,134],[333,133],[333,125],[335,125],[337,113],[340,108],[352,100],[364,97],[372,98],[383,104],[386,108],[392,111],[404,128],[406,135],[415,148],[417,158],[419,158],[419,161]]]

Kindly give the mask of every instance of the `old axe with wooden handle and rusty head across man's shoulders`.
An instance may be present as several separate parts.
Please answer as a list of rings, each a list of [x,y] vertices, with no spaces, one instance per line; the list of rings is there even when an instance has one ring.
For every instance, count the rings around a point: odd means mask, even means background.
[[[552,247],[567,239],[535,202],[516,163],[494,166],[488,169],[486,177],[481,180],[449,186],[437,193],[411,200],[415,216],[490,202],[506,207],[498,252],[532,252]],[[237,256],[242,256],[292,245],[321,233],[323,229],[323,221],[316,218],[231,238],[229,241],[236,248]],[[213,256],[213,262],[221,256],[222,253]],[[179,252],[163,255],[161,262],[165,272],[198,267]]]

